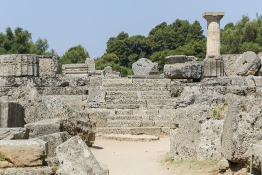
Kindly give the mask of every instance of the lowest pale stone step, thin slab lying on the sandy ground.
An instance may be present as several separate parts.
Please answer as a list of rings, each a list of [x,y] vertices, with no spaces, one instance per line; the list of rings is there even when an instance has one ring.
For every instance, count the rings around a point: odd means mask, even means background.
[[[154,141],[158,140],[158,136],[154,135],[131,135],[131,134],[102,134],[102,133],[96,133],[96,138],[100,139],[113,139],[113,140],[119,140],[119,141]]]

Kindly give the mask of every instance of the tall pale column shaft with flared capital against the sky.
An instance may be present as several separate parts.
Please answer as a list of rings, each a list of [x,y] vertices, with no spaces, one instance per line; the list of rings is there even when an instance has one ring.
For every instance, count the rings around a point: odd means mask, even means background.
[[[204,12],[202,15],[208,21],[206,57],[220,55],[220,19],[224,15],[225,12]]]

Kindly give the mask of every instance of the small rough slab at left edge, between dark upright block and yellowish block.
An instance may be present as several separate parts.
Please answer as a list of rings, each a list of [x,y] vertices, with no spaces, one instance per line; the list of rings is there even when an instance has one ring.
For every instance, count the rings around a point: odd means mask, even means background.
[[[0,127],[0,140],[28,139],[29,130],[24,127]]]

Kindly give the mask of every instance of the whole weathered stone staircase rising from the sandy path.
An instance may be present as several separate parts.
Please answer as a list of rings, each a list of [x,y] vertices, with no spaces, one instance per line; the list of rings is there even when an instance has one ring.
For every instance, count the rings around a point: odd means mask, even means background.
[[[168,90],[169,79],[103,79],[109,115],[101,134],[169,135],[169,118],[178,105]],[[99,116],[98,116],[99,117]]]

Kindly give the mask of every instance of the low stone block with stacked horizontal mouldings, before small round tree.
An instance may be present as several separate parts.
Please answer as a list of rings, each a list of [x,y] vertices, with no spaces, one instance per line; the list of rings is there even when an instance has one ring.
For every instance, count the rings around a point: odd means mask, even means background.
[[[63,64],[62,74],[74,75],[74,76],[88,76],[88,64],[85,63]]]

